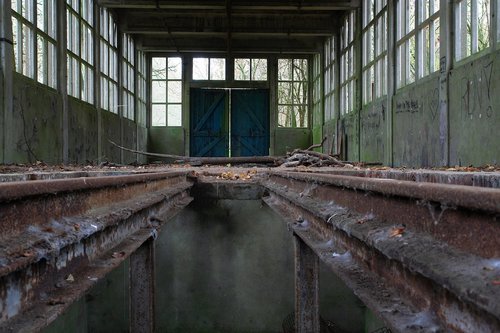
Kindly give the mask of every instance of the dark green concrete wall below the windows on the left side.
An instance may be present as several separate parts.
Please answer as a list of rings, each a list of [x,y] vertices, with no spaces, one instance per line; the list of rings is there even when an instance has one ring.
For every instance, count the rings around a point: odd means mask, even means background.
[[[63,163],[63,126],[68,128],[68,163],[132,163],[138,160],[136,154],[128,152],[123,153],[122,159],[120,150],[108,139],[132,149],[146,150],[147,129],[133,121],[111,112],[98,112],[91,104],[69,97],[68,122],[65,125],[62,98],[56,90],[15,73],[13,92],[12,123],[1,128],[13,142],[13,147],[5,148],[8,152],[5,154],[8,161],[5,162]],[[145,159],[142,157],[139,161],[145,162]]]

